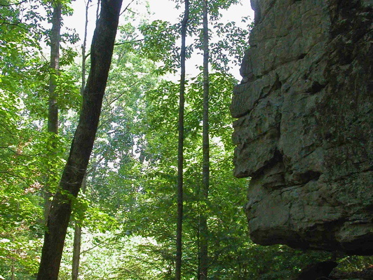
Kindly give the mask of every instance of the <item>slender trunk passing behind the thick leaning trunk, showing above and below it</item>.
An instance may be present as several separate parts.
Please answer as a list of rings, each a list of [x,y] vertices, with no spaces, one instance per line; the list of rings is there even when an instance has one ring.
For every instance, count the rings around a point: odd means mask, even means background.
[[[86,87],[86,46],[87,46],[87,31],[88,31],[88,9],[90,5],[88,0],[86,3],[86,22],[84,25],[84,39],[83,46],[81,48],[81,95],[83,95],[84,88]],[[98,17],[98,15],[97,15]],[[81,184],[81,192],[86,193],[87,188],[87,174],[84,175],[83,182]],[[79,276],[79,265],[81,258],[81,225],[79,222],[75,223],[74,228],[74,244],[72,250],[72,280],[78,280]]]

